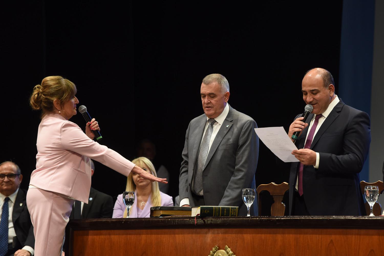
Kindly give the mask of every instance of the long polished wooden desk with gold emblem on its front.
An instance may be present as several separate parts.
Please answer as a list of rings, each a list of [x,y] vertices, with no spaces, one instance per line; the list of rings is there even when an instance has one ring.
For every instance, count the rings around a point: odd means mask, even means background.
[[[172,217],[71,220],[66,256],[384,255],[384,217]]]

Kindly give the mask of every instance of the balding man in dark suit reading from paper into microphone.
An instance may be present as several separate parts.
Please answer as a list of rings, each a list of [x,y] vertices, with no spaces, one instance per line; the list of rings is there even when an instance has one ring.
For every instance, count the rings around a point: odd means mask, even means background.
[[[362,215],[365,212],[359,172],[371,143],[367,113],[347,106],[335,94],[328,70],[314,68],[302,81],[307,122],[296,116],[288,136],[300,131],[292,154],[290,215]]]

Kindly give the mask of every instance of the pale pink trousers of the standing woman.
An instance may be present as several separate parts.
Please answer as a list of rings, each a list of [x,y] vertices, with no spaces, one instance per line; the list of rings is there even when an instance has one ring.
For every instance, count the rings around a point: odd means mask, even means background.
[[[26,203],[35,234],[35,256],[60,256],[65,226],[74,200],[42,190],[28,189]]]

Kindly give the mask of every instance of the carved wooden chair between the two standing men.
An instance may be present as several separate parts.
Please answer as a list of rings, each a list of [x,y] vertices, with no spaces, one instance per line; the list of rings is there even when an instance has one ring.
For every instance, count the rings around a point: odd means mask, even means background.
[[[257,187],[257,201],[258,201],[258,210],[259,214],[261,213],[261,202],[260,202],[260,192],[266,190],[273,197],[274,203],[271,205],[271,216],[284,216],[285,204],[281,201],[283,200],[284,193],[289,189],[288,183],[283,182],[277,185],[274,182],[269,184],[261,184]]]

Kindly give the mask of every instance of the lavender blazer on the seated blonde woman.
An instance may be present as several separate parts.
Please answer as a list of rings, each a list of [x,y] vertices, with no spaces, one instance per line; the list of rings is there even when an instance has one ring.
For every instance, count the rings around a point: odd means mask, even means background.
[[[136,195],[136,191],[135,191]],[[173,200],[172,197],[164,194],[163,192],[160,192],[161,197],[161,206],[173,206]],[[131,218],[149,218],[149,214],[151,213],[151,195],[149,195],[146,205],[144,206],[144,209],[140,213],[140,215],[137,214],[137,198],[135,198],[135,201],[131,207],[131,215],[129,217]],[[116,199],[115,206],[113,207],[113,215],[112,218],[122,218],[124,215],[126,207],[124,203],[122,202],[122,194],[118,195],[118,198]]]

